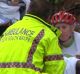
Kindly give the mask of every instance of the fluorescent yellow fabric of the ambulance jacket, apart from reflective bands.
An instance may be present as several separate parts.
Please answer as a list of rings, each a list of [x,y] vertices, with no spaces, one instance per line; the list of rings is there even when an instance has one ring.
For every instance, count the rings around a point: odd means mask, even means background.
[[[33,67],[21,68],[19,65],[28,63],[31,49],[35,50],[30,62],[32,65],[41,69],[43,73],[63,74],[64,60],[44,61],[45,56],[62,54],[57,36],[46,25],[49,24],[38,17],[26,15],[23,20],[4,32],[0,41],[0,67],[5,67],[4,63],[9,63],[11,67],[8,65],[6,68],[0,68],[0,74],[39,74],[40,72]],[[41,38],[37,37],[40,32]],[[36,38],[40,39],[38,43]],[[13,66],[13,63],[19,64]]]

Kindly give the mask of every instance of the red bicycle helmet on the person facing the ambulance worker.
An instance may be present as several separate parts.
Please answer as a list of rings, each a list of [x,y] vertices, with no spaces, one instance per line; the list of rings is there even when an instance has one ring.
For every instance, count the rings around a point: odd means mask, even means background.
[[[69,25],[72,25],[76,22],[76,18],[70,14],[69,12],[66,11],[59,11],[58,13],[55,13],[54,15],[52,15],[51,17],[51,23],[53,25],[57,24],[57,23],[67,23]]]

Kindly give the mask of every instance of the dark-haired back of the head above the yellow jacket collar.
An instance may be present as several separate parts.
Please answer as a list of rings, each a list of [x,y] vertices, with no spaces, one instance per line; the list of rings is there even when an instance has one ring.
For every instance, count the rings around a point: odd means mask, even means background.
[[[53,8],[54,5],[47,0],[32,0],[28,13],[46,19]]]

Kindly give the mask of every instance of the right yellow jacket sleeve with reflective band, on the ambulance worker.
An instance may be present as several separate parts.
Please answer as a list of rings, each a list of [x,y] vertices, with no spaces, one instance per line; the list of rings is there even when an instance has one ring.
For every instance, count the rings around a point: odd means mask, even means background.
[[[58,46],[58,39],[57,37],[52,34],[51,40],[47,43],[49,47],[46,50],[45,54],[45,66],[44,72],[49,74],[63,74],[65,69],[65,62],[63,60],[62,52],[60,47]]]

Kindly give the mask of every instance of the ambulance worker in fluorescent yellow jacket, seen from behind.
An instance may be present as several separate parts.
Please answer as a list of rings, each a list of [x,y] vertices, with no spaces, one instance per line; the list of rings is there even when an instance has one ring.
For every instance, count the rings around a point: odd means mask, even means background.
[[[32,0],[29,14],[4,32],[0,74],[64,73],[65,62],[56,36],[59,31],[45,22],[53,7],[48,0]]]

